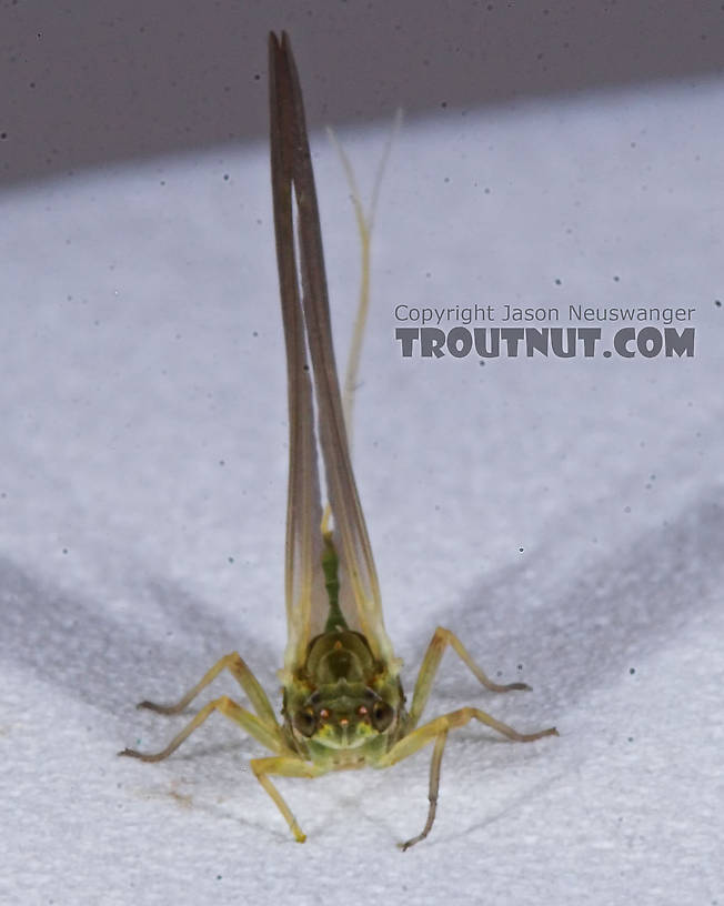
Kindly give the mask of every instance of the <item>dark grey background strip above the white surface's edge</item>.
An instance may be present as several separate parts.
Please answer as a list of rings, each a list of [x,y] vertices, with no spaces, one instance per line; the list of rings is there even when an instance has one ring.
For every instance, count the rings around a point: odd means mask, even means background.
[[[718,73],[723,6],[4,0],[0,181],[263,137],[270,29],[293,39],[311,124],[342,125]]]

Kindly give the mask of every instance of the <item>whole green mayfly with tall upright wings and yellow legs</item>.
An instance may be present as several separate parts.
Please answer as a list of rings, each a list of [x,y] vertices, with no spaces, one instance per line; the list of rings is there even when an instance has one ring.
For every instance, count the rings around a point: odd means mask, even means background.
[[[384,628],[378,575],[358,495],[336,376],[316,192],[296,68],[289,39],[269,37],[271,173],[276,261],[286,346],[289,390],[289,499],[285,596],[288,643],[282,722],[239,654],[222,657],[174,705],[139,707],[178,714],[222,671],[229,671],[253,711],[228,696],[209,702],[161,752],[127,748],[121,755],[167,758],[209,715],[235,721],[273,754],[251,762],[259,783],[292,834],[305,837],[272,776],[319,777],[330,771],[390,767],[433,743],[430,833],[440,768],[451,729],[479,721],[516,742],[555,735],[554,727],[519,733],[476,707],[462,707],[418,726],[444,650],[450,645],[492,692],[529,688],[493,683],[449,630],[435,630],[420,668],[409,711],[400,682],[402,663]],[[296,226],[294,220],[294,205]],[[322,506],[318,441],[329,503]]]

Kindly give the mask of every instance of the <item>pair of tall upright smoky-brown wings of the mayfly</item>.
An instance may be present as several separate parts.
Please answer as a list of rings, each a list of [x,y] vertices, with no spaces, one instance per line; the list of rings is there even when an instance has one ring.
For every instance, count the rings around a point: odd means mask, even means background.
[[[293,672],[303,664],[306,645],[323,631],[329,607],[321,568],[318,434],[340,577],[343,592],[349,592],[341,595],[344,617],[351,628],[364,634],[376,657],[392,664],[392,645],[384,630],[378,575],[348,447],[332,348],[316,191],[299,78],[286,34],[282,34],[281,43],[270,34],[269,60],[272,192],[290,424],[285,562],[289,637],[284,668]],[[292,190],[298,213],[299,269]]]

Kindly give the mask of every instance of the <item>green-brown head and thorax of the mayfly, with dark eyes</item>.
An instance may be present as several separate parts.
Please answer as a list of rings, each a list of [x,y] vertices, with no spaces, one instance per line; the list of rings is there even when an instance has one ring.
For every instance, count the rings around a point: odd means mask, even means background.
[[[318,635],[284,688],[288,733],[312,761],[373,762],[394,742],[404,696],[399,677],[351,630]]]

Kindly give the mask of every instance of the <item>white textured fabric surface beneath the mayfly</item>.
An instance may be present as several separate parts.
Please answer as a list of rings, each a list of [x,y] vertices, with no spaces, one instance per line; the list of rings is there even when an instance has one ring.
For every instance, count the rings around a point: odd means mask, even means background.
[[[220,716],[163,763],[114,754],[165,745],[184,718],[134,702],[237,648],[279,701],[267,148],[4,193],[2,903],[724,903],[723,103],[722,82],[651,87],[448,110],[396,140],[354,450],[388,628],[409,694],[438,624],[534,687],[487,694],[449,653],[429,716],[561,731],[451,735],[405,854],[429,749],[280,781],[304,846]],[[341,137],[363,185],[385,134]],[[358,241],[313,144],[344,361]],[[695,306],[696,355],[403,361],[400,302]]]

